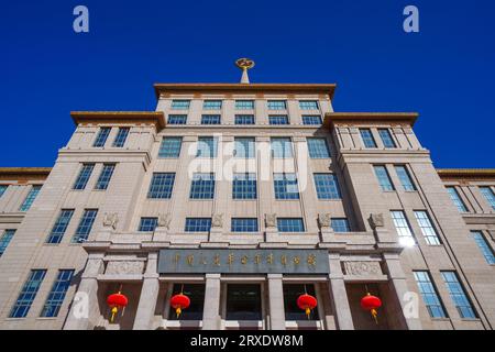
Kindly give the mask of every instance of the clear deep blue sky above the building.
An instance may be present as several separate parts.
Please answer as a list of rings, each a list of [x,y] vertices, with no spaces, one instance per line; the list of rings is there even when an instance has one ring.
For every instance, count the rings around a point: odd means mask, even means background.
[[[90,32],[73,31],[89,8]],[[415,4],[420,33],[403,31]],[[494,1],[4,1],[0,166],[52,166],[72,110],[154,110],[154,82],[337,82],[336,111],[418,111],[437,167],[495,167]]]

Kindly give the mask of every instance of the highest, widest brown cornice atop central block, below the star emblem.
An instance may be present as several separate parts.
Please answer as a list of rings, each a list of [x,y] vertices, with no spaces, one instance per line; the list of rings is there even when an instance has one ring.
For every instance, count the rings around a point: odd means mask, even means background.
[[[161,94],[320,94],[333,99],[334,84],[155,84]]]

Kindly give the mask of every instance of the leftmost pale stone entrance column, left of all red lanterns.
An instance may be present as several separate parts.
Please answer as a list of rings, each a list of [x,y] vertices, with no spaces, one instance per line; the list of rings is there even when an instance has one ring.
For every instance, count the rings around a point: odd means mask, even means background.
[[[88,255],[86,268],[72,302],[64,330],[91,329],[100,316],[98,305],[98,274],[103,272],[103,253]]]

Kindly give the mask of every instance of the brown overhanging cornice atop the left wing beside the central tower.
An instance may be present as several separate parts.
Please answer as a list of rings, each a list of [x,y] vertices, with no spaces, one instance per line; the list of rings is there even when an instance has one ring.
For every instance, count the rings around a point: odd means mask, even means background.
[[[72,111],[76,125],[82,123],[151,123],[160,131],[165,128],[162,111]]]

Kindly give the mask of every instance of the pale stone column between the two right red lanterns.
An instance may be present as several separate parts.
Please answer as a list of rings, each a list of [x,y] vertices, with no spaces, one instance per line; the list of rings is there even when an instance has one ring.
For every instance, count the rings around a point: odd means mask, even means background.
[[[332,310],[337,318],[337,326],[340,330],[354,330],[351,307],[349,306],[348,293],[345,290],[342,267],[340,265],[340,255],[330,254],[329,262],[330,297],[332,300]]]

